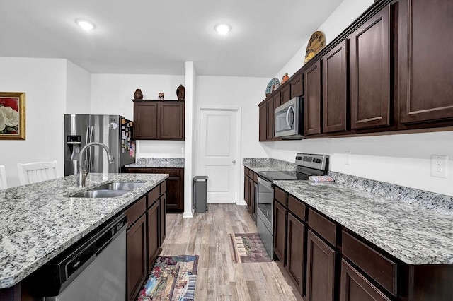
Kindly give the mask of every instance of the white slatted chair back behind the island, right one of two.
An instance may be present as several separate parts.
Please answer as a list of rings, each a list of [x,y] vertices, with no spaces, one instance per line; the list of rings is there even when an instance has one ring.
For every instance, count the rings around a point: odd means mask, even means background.
[[[57,178],[57,161],[18,163],[17,170],[21,185],[55,179]]]

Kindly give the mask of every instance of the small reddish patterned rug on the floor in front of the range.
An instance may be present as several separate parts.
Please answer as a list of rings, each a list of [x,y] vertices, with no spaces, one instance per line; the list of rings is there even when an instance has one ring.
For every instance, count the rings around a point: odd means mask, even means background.
[[[237,263],[272,261],[258,233],[234,233],[230,235],[233,259]]]

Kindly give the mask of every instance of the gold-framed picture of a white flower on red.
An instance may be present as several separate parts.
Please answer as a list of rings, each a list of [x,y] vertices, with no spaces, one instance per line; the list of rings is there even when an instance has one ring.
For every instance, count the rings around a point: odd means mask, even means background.
[[[0,140],[25,140],[24,92],[0,92]]]

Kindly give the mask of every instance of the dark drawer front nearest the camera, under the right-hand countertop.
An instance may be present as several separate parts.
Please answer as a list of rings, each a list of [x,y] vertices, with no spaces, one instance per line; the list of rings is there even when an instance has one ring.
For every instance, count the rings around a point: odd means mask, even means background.
[[[342,240],[343,255],[396,296],[396,263],[344,231]]]

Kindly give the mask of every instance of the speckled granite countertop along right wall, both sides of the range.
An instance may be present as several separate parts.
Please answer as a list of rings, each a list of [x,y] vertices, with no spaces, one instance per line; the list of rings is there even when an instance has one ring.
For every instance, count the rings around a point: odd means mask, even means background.
[[[254,172],[294,163],[244,158]],[[273,183],[406,264],[453,264],[453,197],[328,172],[336,182]]]

